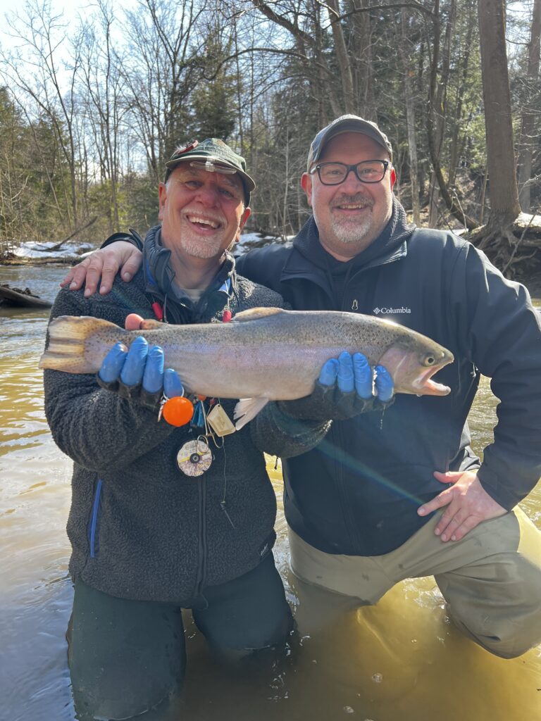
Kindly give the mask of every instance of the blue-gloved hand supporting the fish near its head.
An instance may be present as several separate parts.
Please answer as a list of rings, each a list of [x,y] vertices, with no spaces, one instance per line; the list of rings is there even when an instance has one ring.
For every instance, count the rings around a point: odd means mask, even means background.
[[[301,420],[347,420],[370,410],[382,410],[394,402],[394,386],[383,366],[373,372],[362,353],[346,351],[324,363],[309,396],[279,401],[287,415]],[[374,385],[374,393],[372,386]]]

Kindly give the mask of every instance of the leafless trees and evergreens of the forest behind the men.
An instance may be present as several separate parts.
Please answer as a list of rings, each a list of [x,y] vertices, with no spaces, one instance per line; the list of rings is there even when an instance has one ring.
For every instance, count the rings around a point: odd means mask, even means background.
[[[285,238],[309,143],[353,112],[390,137],[412,220],[541,267],[541,0],[27,0],[4,34],[0,256],[144,233],[164,162],[209,136],[258,182],[251,228]]]

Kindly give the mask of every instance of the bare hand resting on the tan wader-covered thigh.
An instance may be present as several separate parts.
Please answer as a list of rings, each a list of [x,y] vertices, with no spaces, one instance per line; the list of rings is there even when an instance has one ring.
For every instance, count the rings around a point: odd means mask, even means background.
[[[497,518],[507,513],[505,508],[488,495],[477,474],[472,471],[462,473],[436,471],[434,477],[441,483],[454,485],[418,508],[417,513],[419,516],[426,516],[427,513],[447,505],[438,525],[434,528],[434,533],[436,536],[441,536],[442,541],[449,539],[459,541],[481,521],[488,521],[489,518]]]

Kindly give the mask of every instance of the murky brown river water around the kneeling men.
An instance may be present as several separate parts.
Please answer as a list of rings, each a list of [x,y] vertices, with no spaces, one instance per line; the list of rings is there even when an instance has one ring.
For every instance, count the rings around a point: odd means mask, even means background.
[[[51,300],[63,267],[0,268],[0,282]],[[537,304],[541,305],[539,301]],[[71,721],[64,632],[71,461],[50,436],[38,358],[47,311],[0,309],[0,720]],[[477,449],[491,439],[496,400],[483,382],[470,424]],[[276,559],[300,619],[303,593],[287,565],[279,469]],[[541,528],[541,486],[523,504]],[[405,581],[377,606],[345,608],[314,591],[325,608],[270,678],[231,678],[216,668],[186,616],[188,677],[182,719],[190,721],[538,721],[541,646],[501,660],[449,624],[432,578]]]

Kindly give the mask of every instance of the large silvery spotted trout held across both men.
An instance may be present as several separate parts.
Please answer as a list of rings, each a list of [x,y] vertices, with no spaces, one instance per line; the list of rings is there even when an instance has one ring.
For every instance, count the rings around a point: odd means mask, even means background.
[[[127,331],[92,317],[61,316],[50,322],[49,346],[40,368],[97,373],[116,342],[129,346],[143,335],[161,345],[165,367],[175,368],[187,392],[242,402],[237,428],[269,400],[292,400],[314,389],[321,367],[343,351],[364,353],[371,366],[385,366],[395,392],[444,396],[432,380],[454,360],[438,343],[392,321],[340,311],[255,308],[230,323],[167,325],[144,322]]]

